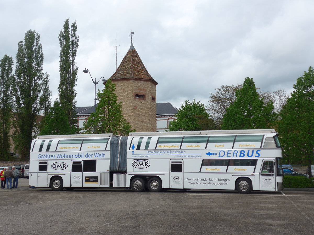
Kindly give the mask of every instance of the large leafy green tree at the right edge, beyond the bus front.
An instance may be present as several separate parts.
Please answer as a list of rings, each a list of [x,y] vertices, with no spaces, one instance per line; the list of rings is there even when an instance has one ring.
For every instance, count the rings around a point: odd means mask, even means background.
[[[309,166],[314,148],[314,70],[296,80],[294,91],[280,112],[278,124],[280,142],[284,156],[291,162],[302,162]],[[311,170],[309,171],[311,174]]]

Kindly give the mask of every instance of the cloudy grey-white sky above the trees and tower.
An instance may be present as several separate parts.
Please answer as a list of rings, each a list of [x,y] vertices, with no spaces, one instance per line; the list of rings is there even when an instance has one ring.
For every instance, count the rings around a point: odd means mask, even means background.
[[[157,102],[180,108],[208,105],[216,87],[252,77],[262,91],[293,91],[314,65],[314,1],[231,0],[0,0],[0,58],[15,58],[33,29],[41,34],[44,72],[58,97],[59,40],[64,21],[76,21],[79,48],[76,106],[94,104],[94,84],[109,78],[133,45],[157,85]],[[99,83],[96,89],[103,89]]]

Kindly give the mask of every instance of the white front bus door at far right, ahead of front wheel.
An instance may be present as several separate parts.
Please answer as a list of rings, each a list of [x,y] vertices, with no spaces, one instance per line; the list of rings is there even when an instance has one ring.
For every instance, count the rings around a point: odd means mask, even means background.
[[[264,159],[260,171],[260,190],[276,190],[275,160]]]

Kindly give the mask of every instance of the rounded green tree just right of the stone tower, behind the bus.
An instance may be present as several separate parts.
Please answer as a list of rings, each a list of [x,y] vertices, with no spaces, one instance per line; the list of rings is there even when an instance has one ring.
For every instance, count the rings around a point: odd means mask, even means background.
[[[176,120],[169,125],[169,131],[199,131],[199,130],[214,130],[215,123],[209,114],[206,112],[204,104],[201,102],[191,103],[186,100],[184,105],[176,114]]]

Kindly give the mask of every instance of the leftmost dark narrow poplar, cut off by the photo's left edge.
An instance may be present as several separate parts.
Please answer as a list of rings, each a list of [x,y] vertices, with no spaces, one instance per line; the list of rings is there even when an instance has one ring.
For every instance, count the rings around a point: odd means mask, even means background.
[[[13,121],[13,60],[4,55],[0,61],[0,159],[9,160],[10,156],[10,130]]]

